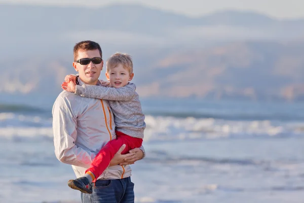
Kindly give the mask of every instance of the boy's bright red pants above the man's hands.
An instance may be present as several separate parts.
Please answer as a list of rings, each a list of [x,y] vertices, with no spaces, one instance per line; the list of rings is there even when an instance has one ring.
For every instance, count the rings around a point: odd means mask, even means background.
[[[126,148],[122,151],[122,154],[127,154],[131,149],[140,147],[142,139],[133,138],[120,131],[116,131],[116,139],[109,141],[103,148],[101,148],[86,171],[90,171],[95,175],[95,180],[93,180],[93,182],[95,182],[103,173],[105,168],[109,166],[111,159],[123,144],[126,145]]]

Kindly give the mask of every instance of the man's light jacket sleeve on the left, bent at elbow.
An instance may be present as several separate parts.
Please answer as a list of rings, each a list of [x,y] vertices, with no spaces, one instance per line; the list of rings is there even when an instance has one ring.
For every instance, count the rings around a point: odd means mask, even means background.
[[[58,96],[53,106],[53,133],[55,155],[63,163],[88,168],[95,153],[78,147],[77,116],[66,97]]]

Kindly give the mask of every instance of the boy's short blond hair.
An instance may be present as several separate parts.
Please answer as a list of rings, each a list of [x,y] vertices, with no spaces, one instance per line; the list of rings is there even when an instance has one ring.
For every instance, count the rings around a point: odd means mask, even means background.
[[[133,62],[132,57],[129,54],[115,53],[111,55],[106,61],[106,72],[108,73],[113,67],[122,64],[125,69],[129,71],[130,74],[133,73]]]

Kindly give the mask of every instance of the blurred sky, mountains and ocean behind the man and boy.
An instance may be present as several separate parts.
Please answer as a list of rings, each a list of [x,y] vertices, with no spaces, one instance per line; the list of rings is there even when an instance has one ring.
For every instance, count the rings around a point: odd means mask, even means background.
[[[147,124],[136,202],[304,202],[302,8],[0,0],[0,202],[80,202],[51,110],[83,40],[134,60]]]

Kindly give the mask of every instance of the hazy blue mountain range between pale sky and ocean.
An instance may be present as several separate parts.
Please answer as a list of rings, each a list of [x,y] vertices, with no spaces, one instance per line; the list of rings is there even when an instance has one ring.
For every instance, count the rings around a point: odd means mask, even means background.
[[[303,19],[0,4],[0,23],[0,103],[53,101],[81,40],[99,42],[104,59],[130,53],[141,96],[304,99]]]

